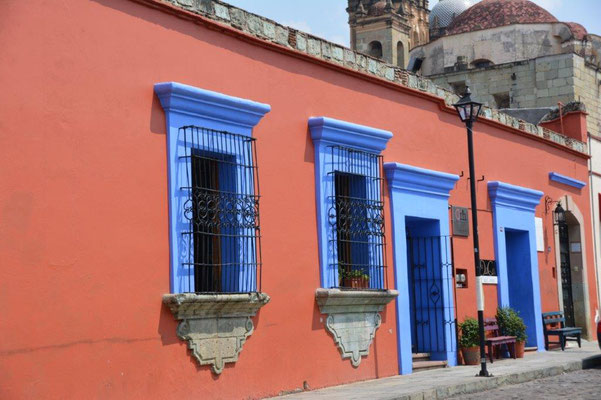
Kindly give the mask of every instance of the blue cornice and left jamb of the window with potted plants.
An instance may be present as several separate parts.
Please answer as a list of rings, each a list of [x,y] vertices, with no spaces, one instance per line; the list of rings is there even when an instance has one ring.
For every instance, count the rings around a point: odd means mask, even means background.
[[[330,288],[338,286],[337,272],[329,271],[336,257],[335,251],[329,249],[329,243],[335,232],[328,219],[328,210],[332,207],[327,193],[333,193],[332,165],[328,165],[328,147],[345,146],[374,154],[386,148],[392,133],[369,126],[357,125],[327,117],[309,119],[311,139],[315,146],[315,198],[317,204],[317,234],[319,240],[319,265],[321,286]]]

